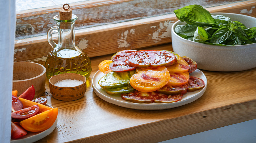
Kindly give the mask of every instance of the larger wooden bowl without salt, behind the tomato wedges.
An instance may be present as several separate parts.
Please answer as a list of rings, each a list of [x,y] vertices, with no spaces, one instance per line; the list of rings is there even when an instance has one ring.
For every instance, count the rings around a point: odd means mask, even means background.
[[[20,96],[32,85],[35,88],[35,98],[45,92],[46,68],[34,62],[14,62],[12,90]]]

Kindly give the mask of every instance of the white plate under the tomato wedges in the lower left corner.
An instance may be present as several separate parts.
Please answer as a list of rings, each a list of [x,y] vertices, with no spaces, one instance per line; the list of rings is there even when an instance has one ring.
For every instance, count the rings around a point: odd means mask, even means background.
[[[50,106],[48,104],[46,104],[46,106],[53,108],[52,106]],[[55,129],[55,127],[57,126],[57,122],[58,122],[58,118],[55,120],[55,122],[49,129],[41,131],[41,132],[27,131],[27,135],[24,135],[23,137],[21,137],[19,139],[11,139],[11,143],[33,143],[33,142],[36,142],[36,141],[46,137],[50,133],[52,133],[53,130]]]

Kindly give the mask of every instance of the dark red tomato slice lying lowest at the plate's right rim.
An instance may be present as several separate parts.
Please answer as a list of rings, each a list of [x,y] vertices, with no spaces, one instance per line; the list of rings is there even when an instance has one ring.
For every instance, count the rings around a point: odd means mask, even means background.
[[[187,88],[187,92],[193,92],[198,89],[201,89],[204,86],[204,81],[200,78],[190,76],[188,82],[183,85]]]

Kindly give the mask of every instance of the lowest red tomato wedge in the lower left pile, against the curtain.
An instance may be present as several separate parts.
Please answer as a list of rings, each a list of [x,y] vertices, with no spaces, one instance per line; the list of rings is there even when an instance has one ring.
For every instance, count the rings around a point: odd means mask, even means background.
[[[24,130],[19,123],[11,122],[11,138],[18,139],[27,135],[27,131]]]

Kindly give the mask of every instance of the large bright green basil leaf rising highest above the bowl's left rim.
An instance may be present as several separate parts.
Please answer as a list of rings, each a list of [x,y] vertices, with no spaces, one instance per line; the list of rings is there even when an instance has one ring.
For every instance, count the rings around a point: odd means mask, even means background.
[[[189,25],[219,27],[211,13],[200,5],[189,5],[174,10],[176,17]]]

